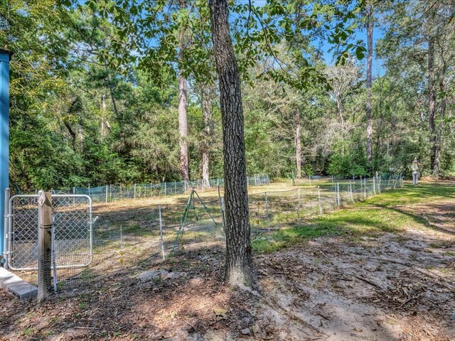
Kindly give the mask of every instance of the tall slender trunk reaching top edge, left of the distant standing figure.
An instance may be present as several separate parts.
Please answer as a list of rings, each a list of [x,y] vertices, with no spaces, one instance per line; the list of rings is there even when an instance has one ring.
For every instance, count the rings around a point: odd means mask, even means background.
[[[371,85],[373,79],[373,3],[370,1],[367,13],[367,93],[366,93],[366,116],[367,116],[367,162],[373,159],[373,115],[371,111]]]

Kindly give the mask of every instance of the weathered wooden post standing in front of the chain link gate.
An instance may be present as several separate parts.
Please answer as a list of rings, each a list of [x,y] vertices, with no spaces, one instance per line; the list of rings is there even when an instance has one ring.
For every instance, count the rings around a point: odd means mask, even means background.
[[[38,196],[39,227],[38,230],[38,302],[43,302],[49,296],[52,265],[52,195],[41,190]]]

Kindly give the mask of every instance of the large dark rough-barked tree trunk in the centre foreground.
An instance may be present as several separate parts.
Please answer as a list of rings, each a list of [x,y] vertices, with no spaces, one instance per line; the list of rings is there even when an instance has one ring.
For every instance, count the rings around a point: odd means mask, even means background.
[[[250,243],[242,92],[237,60],[230,38],[228,1],[209,0],[209,5],[223,121],[225,276],[232,285],[255,286]]]

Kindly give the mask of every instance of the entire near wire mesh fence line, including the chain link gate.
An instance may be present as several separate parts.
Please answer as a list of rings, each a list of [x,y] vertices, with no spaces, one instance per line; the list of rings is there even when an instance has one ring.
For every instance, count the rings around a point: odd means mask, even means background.
[[[400,176],[334,182],[325,179],[311,187],[251,194],[252,233],[296,224],[400,185]],[[188,197],[177,197],[172,203],[143,206],[126,200],[97,202],[88,207],[87,202],[70,195],[61,195],[60,201],[57,198],[55,195],[53,199],[53,280],[60,290],[105,281],[103,278],[123,274],[144,262],[161,261],[179,249],[224,242],[220,190],[203,197],[191,190]],[[38,240],[36,197],[23,196],[12,202],[11,237],[24,237],[11,250],[11,264],[34,269]],[[36,271],[23,274],[24,279],[36,283]]]

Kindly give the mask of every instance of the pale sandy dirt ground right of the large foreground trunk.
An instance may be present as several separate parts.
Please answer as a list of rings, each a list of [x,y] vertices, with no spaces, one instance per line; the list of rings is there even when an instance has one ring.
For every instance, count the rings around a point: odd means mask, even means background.
[[[390,207],[425,229],[321,237],[260,256],[273,304],[260,305],[255,329],[279,340],[455,340],[454,205]]]

